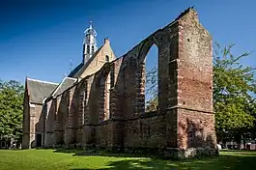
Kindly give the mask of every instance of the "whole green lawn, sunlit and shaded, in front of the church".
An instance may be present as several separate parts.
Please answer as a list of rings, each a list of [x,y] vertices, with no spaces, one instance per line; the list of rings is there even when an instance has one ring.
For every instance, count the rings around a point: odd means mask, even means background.
[[[83,152],[84,153],[84,152]],[[220,156],[186,161],[160,160],[128,155],[77,156],[79,152],[54,150],[0,150],[0,170],[58,169],[256,169],[256,152],[221,152]]]

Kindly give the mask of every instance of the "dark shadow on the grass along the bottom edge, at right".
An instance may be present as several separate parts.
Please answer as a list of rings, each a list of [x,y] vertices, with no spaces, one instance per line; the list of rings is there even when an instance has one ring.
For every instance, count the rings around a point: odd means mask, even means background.
[[[101,170],[144,170],[144,169],[168,169],[168,170],[249,170],[255,167],[255,157],[219,156],[212,159],[188,160],[188,161],[163,161],[163,160],[139,160],[125,159],[111,161]],[[72,170],[89,170],[87,168],[74,168]]]

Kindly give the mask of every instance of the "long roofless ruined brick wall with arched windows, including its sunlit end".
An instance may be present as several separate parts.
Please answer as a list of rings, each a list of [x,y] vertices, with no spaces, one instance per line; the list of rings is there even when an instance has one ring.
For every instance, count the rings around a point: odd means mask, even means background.
[[[153,44],[158,48],[159,105],[156,112],[145,113],[145,59]],[[186,10],[58,97],[57,143],[155,148],[170,156],[214,151],[212,50],[212,38],[196,12]]]

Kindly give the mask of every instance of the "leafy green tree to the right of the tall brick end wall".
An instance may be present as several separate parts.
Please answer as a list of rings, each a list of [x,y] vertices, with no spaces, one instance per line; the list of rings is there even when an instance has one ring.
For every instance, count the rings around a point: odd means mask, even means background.
[[[231,52],[233,46],[230,44],[221,49],[215,43],[213,108],[218,141],[235,139],[240,144],[242,135],[254,125],[256,81],[254,68],[240,63],[249,53],[234,56]]]

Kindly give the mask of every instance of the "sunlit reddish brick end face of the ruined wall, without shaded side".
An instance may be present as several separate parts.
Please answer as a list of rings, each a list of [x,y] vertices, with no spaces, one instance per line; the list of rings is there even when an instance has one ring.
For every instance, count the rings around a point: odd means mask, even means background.
[[[194,11],[179,20],[179,42],[178,148],[215,148],[212,38]]]

